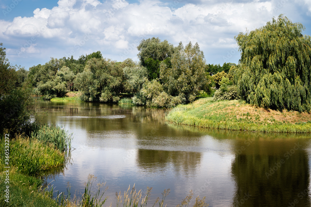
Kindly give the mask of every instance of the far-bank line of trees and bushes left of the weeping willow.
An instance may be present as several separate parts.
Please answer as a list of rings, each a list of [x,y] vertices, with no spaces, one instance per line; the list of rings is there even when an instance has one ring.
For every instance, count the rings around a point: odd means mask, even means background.
[[[44,99],[81,91],[81,101],[118,102],[121,93],[132,93],[134,104],[173,107],[194,101],[202,92],[212,96],[219,88],[219,75],[212,77],[235,65],[207,65],[199,45],[191,42],[174,47],[153,37],[143,39],[137,49],[139,62],[113,61],[97,51],[77,60],[51,58],[30,67],[28,74],[24,69],[17,72]]]

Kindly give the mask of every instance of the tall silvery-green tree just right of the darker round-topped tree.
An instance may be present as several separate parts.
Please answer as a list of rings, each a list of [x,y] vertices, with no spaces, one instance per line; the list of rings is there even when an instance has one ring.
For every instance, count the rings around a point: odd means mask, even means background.
[[[205,58],[199,45],[189,42],[186,47],[179,43],[171,59],[171,67],[162,63],[160,80],[165,92],[179,96],[183,103],[194,101],[206,83],[204,73]]]

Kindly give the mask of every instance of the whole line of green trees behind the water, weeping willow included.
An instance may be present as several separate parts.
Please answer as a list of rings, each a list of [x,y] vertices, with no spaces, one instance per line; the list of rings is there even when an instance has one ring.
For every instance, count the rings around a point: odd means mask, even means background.
[[[4,67],[15,70],[16,86],[30,85],[44,99],[80,91],[82,101],[118,102],[121,93],[131,93],[137,105],[174,107],[204,94],[213,101],[243,99],[259,107],[310,111],[311,40],[304,29],[280,15],[239,33],[237,65],[207,64],[197,43],[175,47],[153,37],[138,45],[139,62],[113,61],[97,51],[77,60],[51,58],[29,71]]]

